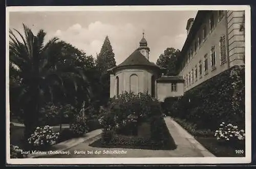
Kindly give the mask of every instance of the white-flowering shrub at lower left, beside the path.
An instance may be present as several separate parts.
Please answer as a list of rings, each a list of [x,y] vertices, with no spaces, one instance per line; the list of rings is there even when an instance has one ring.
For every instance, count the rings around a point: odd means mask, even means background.
[[[34,133],[28,138],[29,144],[34,147],[46,147],[56,143],[59,132],[54,133],[52,127],[36,127]]]

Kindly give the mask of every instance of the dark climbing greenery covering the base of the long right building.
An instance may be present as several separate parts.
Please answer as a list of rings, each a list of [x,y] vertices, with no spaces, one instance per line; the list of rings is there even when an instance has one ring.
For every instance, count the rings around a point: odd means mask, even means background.
[[[165,103],[170,116],[216,130],[221,122],[245,127],[245,68],[232,67]]]

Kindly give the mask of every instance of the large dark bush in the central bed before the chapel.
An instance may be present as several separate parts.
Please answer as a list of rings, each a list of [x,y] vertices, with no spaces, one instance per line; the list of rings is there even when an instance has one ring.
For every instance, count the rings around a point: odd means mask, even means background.
[[[150,135],[152,136],[150,139],[154,145],[163,147],[168,145],[170,140],[174,143],[165,125],[161,105],[158,100],[145,93],[134,94],[132,92],[122,93],[118,99],[109,103],[109,106],[105,108],[102,119],[102,126],[104,128],[102,142],[110,144],[112,142],[111,139],[115,138],[115,134],[133,135],[136,137],[138,126],[143,122],[150,122]],[[119,141],[121,143],[131,142],[131,144],[139,144],[140,142],[131,140],[133,139],[122,138]],[[119,141],[116,142],[119,143]]]

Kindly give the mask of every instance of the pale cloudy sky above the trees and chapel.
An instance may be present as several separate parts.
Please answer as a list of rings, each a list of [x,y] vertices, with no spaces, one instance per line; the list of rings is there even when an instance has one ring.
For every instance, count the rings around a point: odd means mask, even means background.
[[[58,37],[96,57],[109,36],[117,64],[139,47],[144,31],[150,61],[157,61],[167,47],[182,49],[186,23],[197,11],[38,11],[10,12],[9,29],[23,31],[24,23],[34,35],[43,29],[46,41]]]

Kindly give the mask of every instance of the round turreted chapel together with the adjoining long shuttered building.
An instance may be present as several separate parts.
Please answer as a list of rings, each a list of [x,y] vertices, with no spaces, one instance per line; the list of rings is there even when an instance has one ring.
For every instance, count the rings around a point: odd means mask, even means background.
[[[187,20],[187,38],[178,56],[177,76],[149,61],[143,37],[139,47],[120,65],[109,69],[110,97],[124,91],[147,92],[159,101],[184,93],[237,65],[244,65],[244,11],[198,11]],[[185,28],[184,28],[185,29]]]

